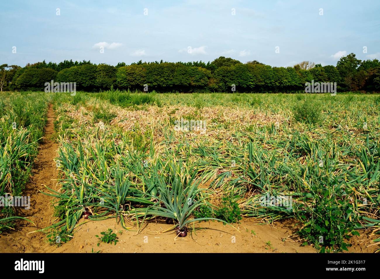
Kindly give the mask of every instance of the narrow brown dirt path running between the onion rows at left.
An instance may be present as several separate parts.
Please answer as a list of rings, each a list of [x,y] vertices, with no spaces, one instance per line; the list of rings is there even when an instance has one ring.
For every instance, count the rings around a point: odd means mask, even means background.
[[[50,225],[52,216],[52,197],[42,194],[39,190],[47,192],[44,185],[55,189],[55,163],[54,157],[58,149],[57,143],[51,139],[54,134],[54,111],[52,105],[47,112],[47,125],[45,136],[40,142],[39,152],[33,169],[33,177],[25,185],[22,195],[30,196],[30,209],[16,208],[17,216],[28,218],[27,221],[17,221],[15,230],[0,235],[0,252],[41,252],[49,244],[46,235],[42,232],[30,233]]]

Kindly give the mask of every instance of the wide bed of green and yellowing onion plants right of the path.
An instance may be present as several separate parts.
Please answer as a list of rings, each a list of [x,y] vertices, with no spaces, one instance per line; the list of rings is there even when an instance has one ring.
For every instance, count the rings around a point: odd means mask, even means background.
[[[77,224],[90,207],[92,220],[116,216],[125,225],[133,216],[162,216],[174,219],[183,234],[191,222],[212,219],[192,219],[198,206],[232,196],[243,216],[298,219],[309,243],[315,243],[309,232],[323,233],[335,226],[330,219],[342,219],[348,226],[326,235],[334,249],[342,244],[337,234],[350,235],[353,225],[378,228],[380,116],[372,96],[265,94],[253,108],[250,94],[214,94],[196,109],[190,107],[193,96],[160,95],[169,109],[136,107],[133,120],[123,111],[103,131],[93,127],[94,115],[73,125],[70,137],[60,139],[57,197],[68,220],[60,225]],[[320,104],[318,121],[294,121],[291,107],[300,101]],[[99,102],[104,100],[89,96],[86,113]],[[76,111],[59,109],[60,115]],[[181,117],[210,120],[206,133],[174,131]],[[267,194],[291,196],[293,206],[263,205]]]

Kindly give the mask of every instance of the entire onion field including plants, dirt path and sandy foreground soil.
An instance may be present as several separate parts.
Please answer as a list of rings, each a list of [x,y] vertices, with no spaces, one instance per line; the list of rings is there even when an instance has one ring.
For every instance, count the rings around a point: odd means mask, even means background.
[[[1,96],[0,252],[380,250],[380,95]]]

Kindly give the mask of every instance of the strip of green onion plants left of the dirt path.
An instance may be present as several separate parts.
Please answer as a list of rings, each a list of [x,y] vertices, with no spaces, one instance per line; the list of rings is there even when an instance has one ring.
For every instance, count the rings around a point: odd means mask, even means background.
[[[0,103],[0,196],[20,195],[37,154],[51,95],[6,95]],[[4,97],[4,96],[3,96]],[[13,227],[13,208],[1,208],[0,229]],[[25,219],[27,220],[27,219]],[[27,220],[29,221],[29,220]]]

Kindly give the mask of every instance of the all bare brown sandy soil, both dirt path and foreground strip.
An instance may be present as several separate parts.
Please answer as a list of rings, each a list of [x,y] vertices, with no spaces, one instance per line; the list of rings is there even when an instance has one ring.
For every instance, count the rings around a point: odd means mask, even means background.
[[[39,192],[55,189],[54,157],[58,145],[51,140],[54,133],[54,112],[49,107],[45,137],[40,145],[36,159],[34,175],[26,185],[24,194],[31,196],[30,210],[19,210],[17,214],[35,222],[20,222],[16,230],[0,235],[0,252],[260,252],[260,253],[315,253],[312,246],[301,246],[297,239],[287,239],[294,233],[291,220],[277,222],[274,225],[258,225],[252,219],[243,219],[234,227],[223,225],[221,222],[202,222],[195,224],[195,231],[189,232],[184,238],[176,238],[174,232],[162,233],[172,225],[165,222],[149,222],[137,227],[131,224],[130,230],[125,230],[116,223],[115,218],[104,221],[88,221],[78,227],[74,238],[60,247],[50,246],[46,236],[41,232],[33,232],[51,224],[52,197]],[[83,218],[80,222],[85,221]],[[108,228],[117,233],[119,242],[114,244],[101,243],[97,246],[100,232]],[[30,233],[33,232],[33,233]],[[369,246],[366,236],[353,238],[354,246],[350,252],[374,252],[378,245]]]

